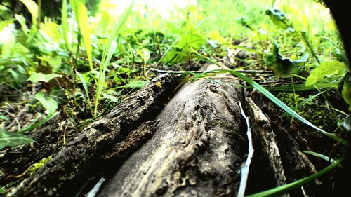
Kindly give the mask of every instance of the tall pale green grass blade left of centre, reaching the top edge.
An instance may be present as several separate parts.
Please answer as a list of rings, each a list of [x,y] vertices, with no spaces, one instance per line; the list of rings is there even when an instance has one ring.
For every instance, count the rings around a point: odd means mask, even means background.
[[[124,25],[124,22],[126,22],[128,15],[131,13],[132,8],[133,8],[134,0],[131,1],[131,4],[128,6],[126,11],[124,12],[123,15],[121,15],[121,18],[119,19],[119,22],[117,25],[114,27],[112,34],[109,36],[109,39],[107,40],[107,43],[104,47],[104,50],[102,52],[102,58],[101,58],[101,64],[100,64],[100,69],[99,69],[99,79],[96,87],[96,95],[95,95],[95,104],[94,104],[94,116],[98,114],[98,104],[100,101],[100,93],[102,91],[102,84],[105,82],[105,72],[107,69],[107,66],[111,60],[112,54],[114,52],[114,48],[116,47],[116,43],[113,44],[114,39],[117,37],[117,34],[119,30],[121,29],[122,25]]]

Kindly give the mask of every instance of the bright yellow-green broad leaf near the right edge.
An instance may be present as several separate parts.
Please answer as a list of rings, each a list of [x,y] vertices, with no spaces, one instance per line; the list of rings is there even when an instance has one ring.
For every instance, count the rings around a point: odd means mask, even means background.
[[[321,64],[319,64],[319,66],[310,73],[310,76],[308,76],[306,86],[312,86],[314,83],[319,81],[319,79],[322,79],[325,76],[331,74],[342,75],[345,74],[345,72],[347,72],[347,66],[343,62],[321,62]]]

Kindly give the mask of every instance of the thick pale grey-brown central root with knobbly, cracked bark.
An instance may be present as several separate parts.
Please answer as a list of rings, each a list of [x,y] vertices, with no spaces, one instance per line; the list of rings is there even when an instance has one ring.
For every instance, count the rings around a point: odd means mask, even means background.
[[[234,86],[187,83],[157,117],[152,138],[98,196],[235,196],[246,154],[239,101]]]

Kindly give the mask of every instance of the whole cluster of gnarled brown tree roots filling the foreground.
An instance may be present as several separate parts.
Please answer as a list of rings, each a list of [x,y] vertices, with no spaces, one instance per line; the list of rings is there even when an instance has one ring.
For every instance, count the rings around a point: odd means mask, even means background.
[[[218,66],[202,68],[211,69]],[[245,97],[238,79],[189,81],[168,101],[180,79],[166,74],[151,81],[7,196],[84,196],[101,177],[107,181],[97,196],[237,196],[249,143],[239,103],[255,150],[246,194],[316,172],[299,131],[259,94]]]

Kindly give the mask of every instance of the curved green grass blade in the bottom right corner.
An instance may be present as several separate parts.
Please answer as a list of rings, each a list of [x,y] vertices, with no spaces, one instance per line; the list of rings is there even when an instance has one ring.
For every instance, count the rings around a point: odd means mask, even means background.
[[[293,189],[297,189],[300,186],[303,186],[305,184],[308,184],[309,182],[314,181],[315,179],[322,177],[323,175],[325,175],[328,172],[331,172],[332,170],[336,169],[338,167],[338,165],[340,165],[340,163],[343,161],[343,158],[338,159],[336,162],[331,163],[331,165],[328,165],[326,168],[324,168],[323,170],[310,175],[308,177],[305,177],[303,179],[300,179],[296,182],[292,182],[290,184],[285,184],[282,186],[278,186],[274,189],[269,189],[267,191],[262,191],[260,193],[255,193],[246,197],[263,197],[263,196],[280,196],[284,193],[287,193]]]

